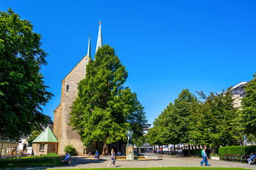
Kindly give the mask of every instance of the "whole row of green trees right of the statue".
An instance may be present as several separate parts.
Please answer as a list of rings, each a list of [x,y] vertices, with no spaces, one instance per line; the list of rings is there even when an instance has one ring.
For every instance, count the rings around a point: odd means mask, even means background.
[[[243,135],[251,141],[256,129],[256,74],[244,87],[242,107],[234,107],[231,88],[221,93],[182,90],[154,121],[147,134],[151,145],[188,144],[211,148],[243,145]]]

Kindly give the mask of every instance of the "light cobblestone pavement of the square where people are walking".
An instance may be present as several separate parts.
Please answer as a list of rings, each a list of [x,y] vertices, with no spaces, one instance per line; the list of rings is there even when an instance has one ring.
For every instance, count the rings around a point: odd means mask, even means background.
[[[61,167],[27,167],[12,169],[77,169],[77,168],[100,168],[108,167],[110,160],[93,160],[93,157],[77,156],[73,157],[75,162],[70,166]],[[163,160],[116,160],[116,167],[199,167],[200,158],[163,156]],[[246,169],[256,169],[256,165],[249,165],[239,162],[228,162],[222,160],[209,160],[211,167],[243,167]],[[113,167],[113,166],[111,166]]]

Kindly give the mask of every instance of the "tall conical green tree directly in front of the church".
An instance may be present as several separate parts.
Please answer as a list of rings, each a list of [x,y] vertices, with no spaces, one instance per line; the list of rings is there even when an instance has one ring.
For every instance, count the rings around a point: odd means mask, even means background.
[[[136,94],[124,87],[127,76],[115,50],[104,45],[97,50],[95,60],[89,61],[86,77],[78,85],[70,124],[84,145],[103,141],[102,154],[108,154],[110,143],[124,141],[129,127],[134,131],[134,138],[142,135],[145,112]]]

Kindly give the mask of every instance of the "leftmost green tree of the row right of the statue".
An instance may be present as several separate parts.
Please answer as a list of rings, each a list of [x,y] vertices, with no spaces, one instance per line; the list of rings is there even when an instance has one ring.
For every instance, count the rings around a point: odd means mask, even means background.
[[[188,143],[190,115],[195,110],[196,102],[196,97],[188,89],[182,90],[174,104],[170,103],[154,121],[154,127],[148,132],[150,144]]]

